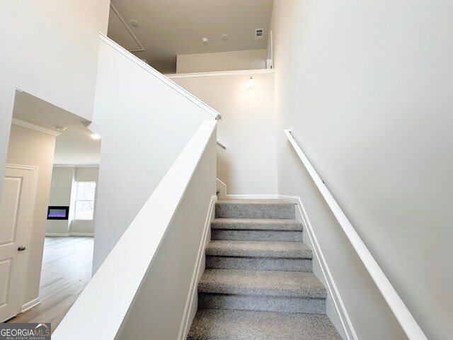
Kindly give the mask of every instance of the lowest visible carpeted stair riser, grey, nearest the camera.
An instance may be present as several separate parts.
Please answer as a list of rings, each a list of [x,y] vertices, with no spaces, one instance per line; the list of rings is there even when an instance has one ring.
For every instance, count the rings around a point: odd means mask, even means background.
[[[306,297],[198,293],[198,308],[326,314],[326,300]]]

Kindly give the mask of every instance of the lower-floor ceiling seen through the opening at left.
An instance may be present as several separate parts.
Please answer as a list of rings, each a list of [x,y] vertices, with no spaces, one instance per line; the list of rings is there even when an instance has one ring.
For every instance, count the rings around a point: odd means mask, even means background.
[[[67,127],[57,136],[54,164],[99,164],[101,141],[91,139],[88,120],[21,91],[16,91],[13,118],[55,131],[55,125]]]

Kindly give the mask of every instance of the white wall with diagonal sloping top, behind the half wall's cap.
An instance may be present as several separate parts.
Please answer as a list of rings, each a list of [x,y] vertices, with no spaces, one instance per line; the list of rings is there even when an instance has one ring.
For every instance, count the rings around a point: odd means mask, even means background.
[[[200,124],[214,119],[164,76],[108,41],[101,42],[90,125],[102,137],[93,271]]]

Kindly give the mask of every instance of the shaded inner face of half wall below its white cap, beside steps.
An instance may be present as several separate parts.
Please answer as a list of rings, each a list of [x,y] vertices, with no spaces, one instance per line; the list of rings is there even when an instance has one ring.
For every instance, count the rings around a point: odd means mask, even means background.
[[[203,237],[210,227],[207,215],[215,194],[215,140],[214,132],[134,298],[120,340],[187,337],[185,318],[190,327],[197,310],[197,266],[204,263]],[[195,304],[189,310],[191,289]]]

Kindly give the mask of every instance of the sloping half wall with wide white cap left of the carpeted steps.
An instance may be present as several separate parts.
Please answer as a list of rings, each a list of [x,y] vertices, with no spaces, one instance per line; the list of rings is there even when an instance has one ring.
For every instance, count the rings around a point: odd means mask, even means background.
[[[185,339],[217,200],[216,124],[205,120],[190,138],[52,339]]]

